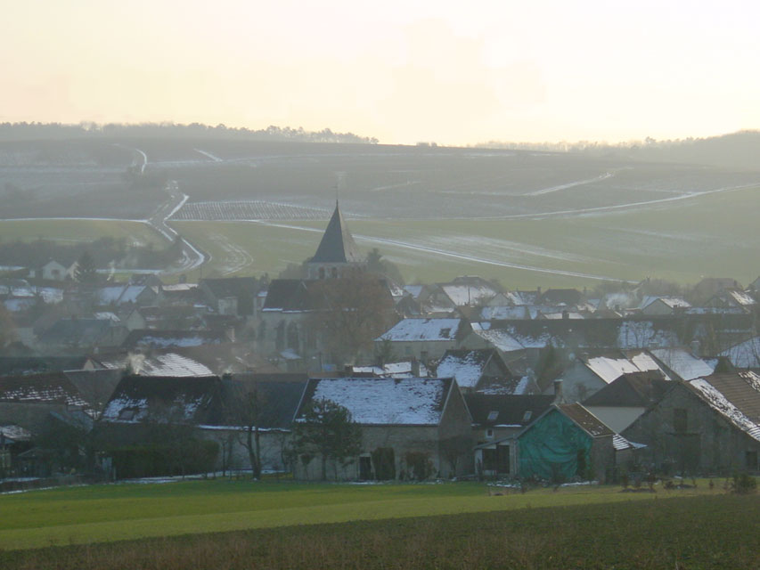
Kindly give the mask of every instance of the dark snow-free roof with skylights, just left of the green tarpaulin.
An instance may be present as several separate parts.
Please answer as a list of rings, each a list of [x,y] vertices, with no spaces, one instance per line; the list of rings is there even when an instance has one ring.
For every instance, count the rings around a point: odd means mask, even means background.
[[[464,400],[473,424],[522,427],[546,411],[554,396],[465,394]]]

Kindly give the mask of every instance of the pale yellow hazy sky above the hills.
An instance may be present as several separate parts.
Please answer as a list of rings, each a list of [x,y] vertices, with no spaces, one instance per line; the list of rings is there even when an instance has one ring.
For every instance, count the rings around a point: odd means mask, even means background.
[[[760,128],[760,3],[0,0],[0,122],[380,142]]]

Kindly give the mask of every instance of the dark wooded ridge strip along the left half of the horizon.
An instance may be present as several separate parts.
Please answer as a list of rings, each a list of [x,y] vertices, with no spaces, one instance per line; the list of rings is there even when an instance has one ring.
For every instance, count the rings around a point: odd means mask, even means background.
[[[267,126],[266,129],[251,130],[225,125],[208,126],[200,123],[176,125],[174,123],[143,123],[124,125],[109,123],[81,123],[63,125],[61,123],[0,123],[0,141],[29,141],[56,139],[97,139],[97,138],[179,138],[179,139],[232,139],[248,141],[298,141],[298,142],[347,142],[377,144],[378,140],[353,133],[333,133],[325,128],[321,131],[305,131],[303,128]]]

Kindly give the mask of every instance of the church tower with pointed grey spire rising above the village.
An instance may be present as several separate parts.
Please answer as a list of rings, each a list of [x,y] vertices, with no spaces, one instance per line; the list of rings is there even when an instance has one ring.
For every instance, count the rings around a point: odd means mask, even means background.
[[[366,265],[366,259],[359,254],[359,248],[340,213],[338,200],[335,200],[330,224],[327,224],[314,257],[306,262],[306,276],[309,279],[344,277],[348,273],[364,270]]]

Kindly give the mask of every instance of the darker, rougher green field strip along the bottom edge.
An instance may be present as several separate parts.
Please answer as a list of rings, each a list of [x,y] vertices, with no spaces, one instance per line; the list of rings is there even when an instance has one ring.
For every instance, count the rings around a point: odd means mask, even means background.
[[[0,551],[0,566],[744,570],[758,567],[759,511],[760,497],[729,495],[509,509]]]

